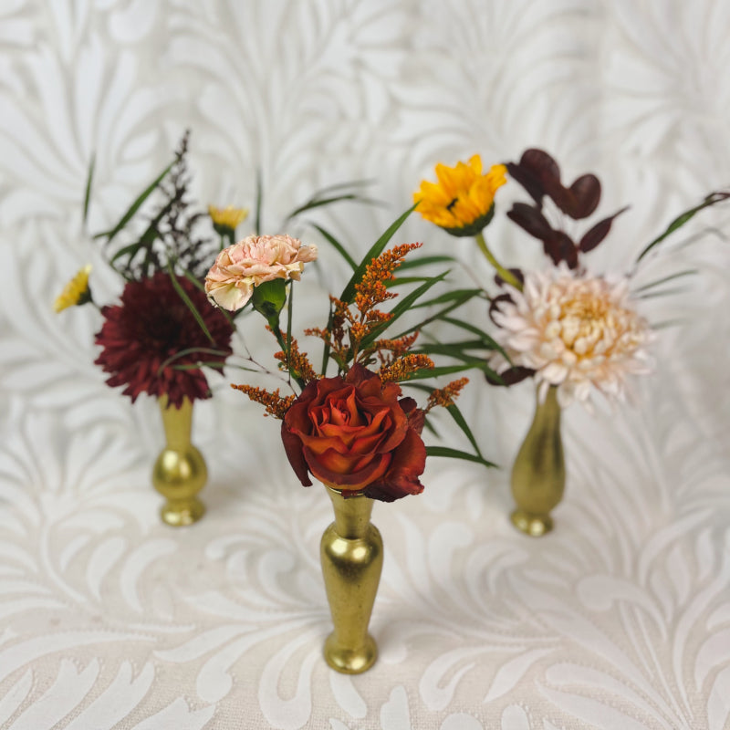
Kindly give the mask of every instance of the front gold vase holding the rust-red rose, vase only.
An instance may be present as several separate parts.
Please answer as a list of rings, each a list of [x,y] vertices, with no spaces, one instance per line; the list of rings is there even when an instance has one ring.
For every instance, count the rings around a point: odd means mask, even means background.
[[[325,641],[325,660],[332,669],[359,674],[378,658],[368,633],[372,604],[382,571],[382,537],[370,524],[372,500],[347,499],[328,487],[335,521],[325,530],[319,548],[334,631]]]

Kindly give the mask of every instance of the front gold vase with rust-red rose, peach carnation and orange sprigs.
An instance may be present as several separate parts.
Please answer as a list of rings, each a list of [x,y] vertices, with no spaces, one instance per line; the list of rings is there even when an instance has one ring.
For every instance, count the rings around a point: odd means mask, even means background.
[[[281,386],[233,387],[263,405],[266,415],[281,420],[284,451],[301,484],[311,486],[314,477],[328,488],[335,521],[322,536],[320,558],[334,631],[325,642],[324,656],[342,673],[364,672],[377,657],[368,624],[383,547],[380,532],[370,524],[370,513],[373,500],[392,502],[423,491],[420,477],[429,449],[421,434],[428,412],[435,406],[450,409],[476,450],[476,454],[448,449],[432,453],[489,464],[455,410],[454,399],[465,378],[443,388],[426,387],[429,397],[423,408],[401,388],[437,374],[438,369],[427,354],[412,349],[420,325],[406,327],[394,337],[386,330],[445,276],[418,277],[420,286],[390,309],[383,308],[398,296],[392,291],[399,283],[394,272],[421,246],[385,250],[410,213],[391,225],[360,265],[345,256],[353,268],[349,282],[339,297],[329,297],[326,324],[304,331],[322,343],[319,370],[292,336],[294,286],[305,265],[317,257],[314,246],[287,235],[250,236],[221,251],[205,278],[211,302],[232,312],[250,303],[266,319],[280,348],[274,357],[287,394],[281,393]],[[282,328],[285,308],[287,325]],[[336,372],[329,375],[331,365]]]

